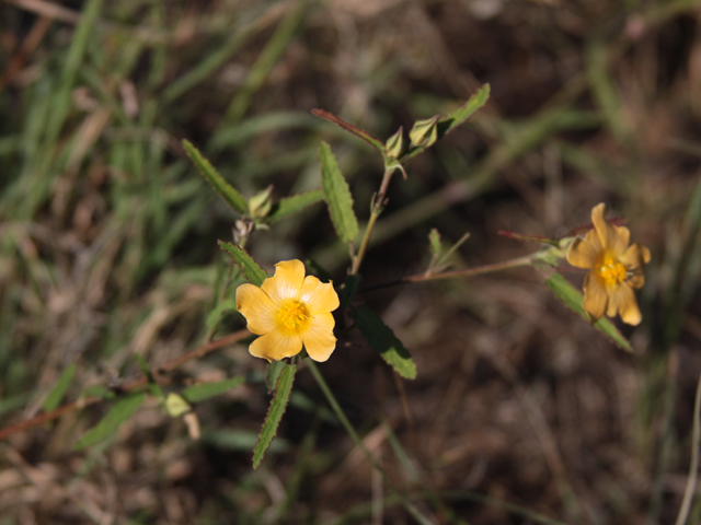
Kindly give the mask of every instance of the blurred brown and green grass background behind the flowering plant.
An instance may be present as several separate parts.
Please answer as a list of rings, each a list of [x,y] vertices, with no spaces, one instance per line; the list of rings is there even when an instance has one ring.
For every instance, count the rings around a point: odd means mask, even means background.
[[[701,1],[5,0],[0,3],[0,425],[138,377],[203,343],[232,289],[235,217],[181,147],[246,197],[320,185],[330,141],[368,215],[382,165],[321,107],[382,139],[492,97],[397,177],[367,283],[524,255],[606,201],[653,261],[627,354],[532,269],[367,293],[412,351],[397,382],[353,337],[321,365],[376,459],[435,523],[674,523],[701,372]],[[322,205],[249,244],[341,280]],[[573,275],[581,283],[581,276]],[[215,337],[240,329],[228,313]],[[242,375],[197,405],[203,436],[151,402],[110,442],[72,445],[105,407],[0,443],[0,523],[412,523],[308,371],[257,470],[265,362],[245,345],[175,383]],[[689,523],[699,523],[701,504]]]

